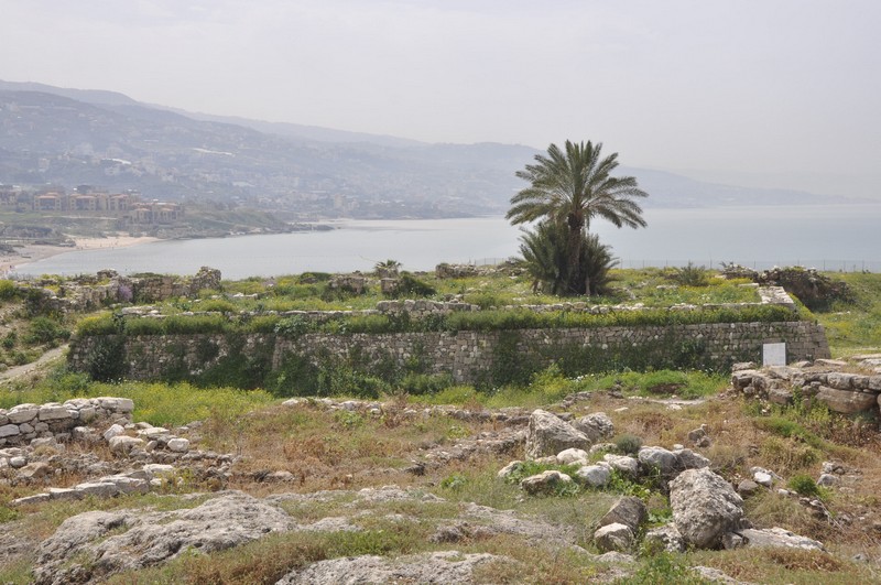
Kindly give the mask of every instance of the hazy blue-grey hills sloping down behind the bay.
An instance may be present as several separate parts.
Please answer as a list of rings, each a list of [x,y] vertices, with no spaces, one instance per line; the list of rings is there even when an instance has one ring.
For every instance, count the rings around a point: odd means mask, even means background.
[[[514,172],[539,152],[189,113],[112,91],[0,82],[0,184],[138,189],[148,198],[294,210],[297,219],[463,217],[504,213],[523,186]],[[646,207],[847,201],[622,172],[651,194]]]

